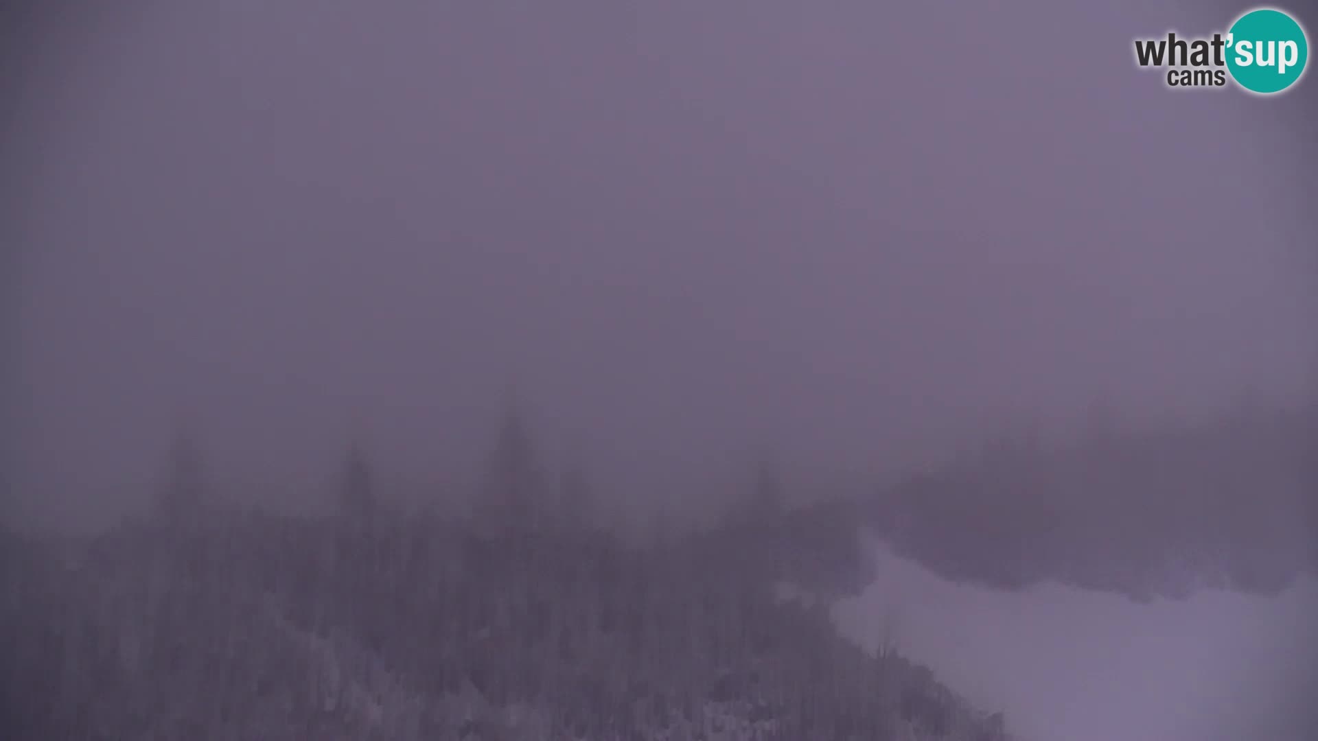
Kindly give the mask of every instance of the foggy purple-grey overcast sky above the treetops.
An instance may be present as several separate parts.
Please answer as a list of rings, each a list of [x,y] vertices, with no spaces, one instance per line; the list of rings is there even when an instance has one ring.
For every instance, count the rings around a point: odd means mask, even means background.
[[[764,448],[880,472],[1095,398],[1301,394],[1313,74],[1173,92],[1131,40],[1230,11],[1066,5],[229,0],[29,26],[0,207],[17,501],[136,506],[181,421],[233,480],[322,480],[355,426],[391,475],[460,479],[510,386],[551,463],[637,497]]]

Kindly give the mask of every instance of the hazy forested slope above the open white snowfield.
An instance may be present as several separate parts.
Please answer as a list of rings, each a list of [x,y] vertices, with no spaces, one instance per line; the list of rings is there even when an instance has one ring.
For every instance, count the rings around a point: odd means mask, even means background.
[[[1318,575],[1315,450],[1313,402],[1143,427],[1099,414],[1070,440],[1000,435],[887,488],[865,519],[956,581],[1276,595]]]

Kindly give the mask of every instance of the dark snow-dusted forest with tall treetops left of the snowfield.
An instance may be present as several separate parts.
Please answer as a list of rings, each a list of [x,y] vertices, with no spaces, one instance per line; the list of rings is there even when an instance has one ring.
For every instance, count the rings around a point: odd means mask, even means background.
[[[467,517],[390,506],[356,447],[323,516],[208,502],[186,440],[169,472],[141,522],[5,535],[9,738],[1006,738],[838,636],[869,581],[851,513],[788,510],[767,472],[646,545],[589,525],[515,417]]]

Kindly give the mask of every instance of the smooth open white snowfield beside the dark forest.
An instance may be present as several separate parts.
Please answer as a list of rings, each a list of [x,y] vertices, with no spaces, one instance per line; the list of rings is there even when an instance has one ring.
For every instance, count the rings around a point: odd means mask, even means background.
[[[946,581],[878,548],[841,630],[894,642],[1021,741],[1318,738],[1318,581],[1277,597],[1207,591],[1135,603],[1057,584]]]

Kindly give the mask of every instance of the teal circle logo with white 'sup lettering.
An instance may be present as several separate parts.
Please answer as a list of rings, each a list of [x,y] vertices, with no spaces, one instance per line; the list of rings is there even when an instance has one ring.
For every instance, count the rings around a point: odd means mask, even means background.
[[[1249,11],[1227,32],[1227,69],[1249,92],[1271,95],[1286,90],[1305,74],[1307,61],[1305,29],[1281,11]]]

